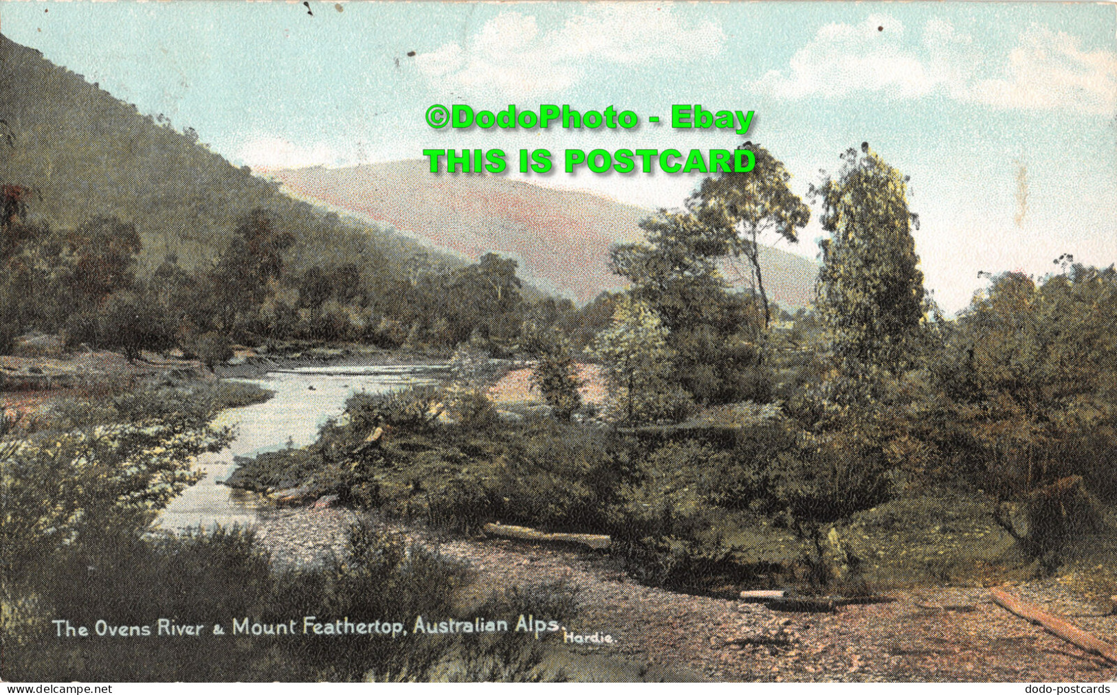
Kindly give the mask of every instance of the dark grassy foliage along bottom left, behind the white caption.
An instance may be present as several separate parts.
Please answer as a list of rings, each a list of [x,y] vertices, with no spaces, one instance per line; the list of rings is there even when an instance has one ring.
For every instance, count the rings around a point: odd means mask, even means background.
[[[465,566],[403,538],[356,524],[343,558],[302,571],[279,570],[251,533],[232,529],[143,539],[118,533],[90,539],[45,559],[18,614],[6,597],[6,680],[479,680],[554,679],[546,653],[523,634],[397,637],[278,637],[233,635],[230,620],[289,628],[294,616],[319,621],[375,619],[402,622],[474,615],[534,612],[566,620],[572,595],[562,586],[509,587],[476,606],[458,596],[470,583]],[[18,600],[18,599],[17,599]],[[527,601],[535,601],[527,606]],[[480,611],[480,612],[479,612]],[[56,616],[94,626],[206,624],[189,639],[58,639]],[[211,634],[214,621],[226,635]],[[270,628],[275,629],[275,628]]]

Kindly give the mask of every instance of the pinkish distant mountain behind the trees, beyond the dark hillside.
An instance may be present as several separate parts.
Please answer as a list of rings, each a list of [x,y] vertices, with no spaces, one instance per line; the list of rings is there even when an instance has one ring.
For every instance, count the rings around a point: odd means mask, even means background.
[[[609,247],[642,239],[652,211],[584,191],[550,189],[488,174],[431,174],[423,160],[352,167],[275,170],[283,189],[412,234],[470,259],[496,251],[519,261],[522,274],[579,302],[623,287],[607,266]],[[765,288],[781,307],[813,298],[817,264],[765,247]]]

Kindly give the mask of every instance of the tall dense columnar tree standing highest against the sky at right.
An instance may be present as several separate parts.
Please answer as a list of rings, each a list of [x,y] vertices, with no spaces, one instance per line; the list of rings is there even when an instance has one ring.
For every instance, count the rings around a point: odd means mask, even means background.
[[[828,342],[847,373],[869,364],[898,369],[904,342],[925,318],[923,272],[908,211],[908,177],[862,143],[838,177],[811,186],[822,203],[818,309]]]

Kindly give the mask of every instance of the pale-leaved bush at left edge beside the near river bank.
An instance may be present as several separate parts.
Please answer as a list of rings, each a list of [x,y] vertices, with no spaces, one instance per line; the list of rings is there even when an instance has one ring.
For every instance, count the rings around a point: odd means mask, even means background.
[[[50,426],[0,442],[4,577],[18,581],[47,556],[142,528],[198,480],[193,458],[231,432],[208,423],[227,404],[258,398],[245,387],[136,389],[95,406],[61,404]],[[220,392],[220,393],[218,393]]]

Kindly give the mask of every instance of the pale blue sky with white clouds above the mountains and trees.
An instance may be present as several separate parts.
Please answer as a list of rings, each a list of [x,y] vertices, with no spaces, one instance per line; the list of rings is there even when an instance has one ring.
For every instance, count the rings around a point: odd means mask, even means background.
[[[949,311],[984,287],[982,271],[1040,277],[1062,253],[1117,262],[1113,3],[0,0],[0,31],[256,171],[747,138],[805,196],[868,142],[910,176],[916,251]],[[642,123],[433,129],[432,104],[612,105]],[[675,129],[674,104],[755,117],[746,135]],[[509,175],[648,207],[679,205],[701,177]],[[815,258],[817,213],[780,248]]]

